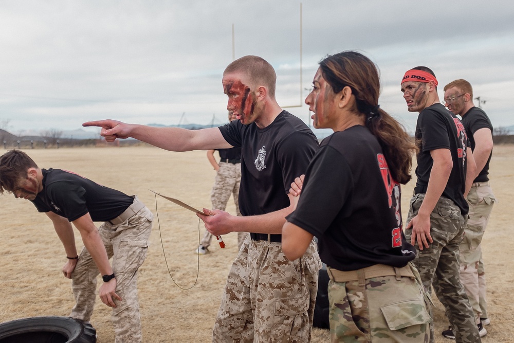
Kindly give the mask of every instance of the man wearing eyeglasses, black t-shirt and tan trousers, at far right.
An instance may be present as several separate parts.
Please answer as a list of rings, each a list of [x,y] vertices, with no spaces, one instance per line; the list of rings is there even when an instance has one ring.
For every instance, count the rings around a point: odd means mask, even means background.
[[[468,222],[460,245],[461,282],[473,308],[481,336],[490,320],[485,299],[485,270],[482,259],[482,237],[496,201],[489,186],[489,162],[492,156],[492,124],[487,114],[473,104],[473,88],[466,80],[455,80],[444,88],[448,110],[462,117],[476,163],[473,185],[466,198],[469,204]],[[450,330],[447,334],[453,335]],[[444,334],[443,334],[444,335]]]

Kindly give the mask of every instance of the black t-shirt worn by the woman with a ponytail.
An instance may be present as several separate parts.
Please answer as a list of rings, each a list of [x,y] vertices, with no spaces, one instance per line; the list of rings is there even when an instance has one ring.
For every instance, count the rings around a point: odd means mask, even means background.
[[[357,125],[321,142],[286,219],[318,237],[320,258],[330,267],[403,267],[416,253],[403,235],[400,198],[378,140]]]

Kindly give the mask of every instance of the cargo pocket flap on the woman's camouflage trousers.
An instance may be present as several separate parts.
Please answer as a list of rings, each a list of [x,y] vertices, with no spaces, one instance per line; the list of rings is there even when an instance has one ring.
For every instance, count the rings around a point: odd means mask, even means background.
[[[432,321],[423,300],[413,299],[380,308],[390,330],[401,330]]]

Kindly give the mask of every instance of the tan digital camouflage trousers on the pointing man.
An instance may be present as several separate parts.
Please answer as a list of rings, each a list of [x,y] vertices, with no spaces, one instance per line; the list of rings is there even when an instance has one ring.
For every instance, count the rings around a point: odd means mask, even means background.
[[[281,243],[247,237],[230,269],[212,341],[310,341],[319,269],[314,241],[291,262]]]

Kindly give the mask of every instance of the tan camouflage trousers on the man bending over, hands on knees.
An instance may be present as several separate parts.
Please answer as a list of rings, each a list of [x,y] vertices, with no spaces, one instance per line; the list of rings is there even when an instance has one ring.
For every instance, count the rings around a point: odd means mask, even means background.
[[[107,250],[107,256],[113,258],[112,267],[117,281],[116,294],[123,299],[121,301],[114,300],[116,308],[113,308],[111,316],[116,343],[142,342],[137,298],[137,270],[146,258],[152,221],[152,212],[144,207],[121,224],[111,225],[105,222],[98,229]],[[71,275],[76,304],[70,317],[84,321],[90,320],[95,306],[99,274],[95,261],[84,248]]]

